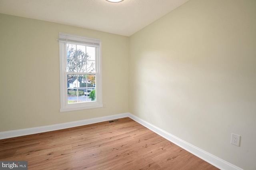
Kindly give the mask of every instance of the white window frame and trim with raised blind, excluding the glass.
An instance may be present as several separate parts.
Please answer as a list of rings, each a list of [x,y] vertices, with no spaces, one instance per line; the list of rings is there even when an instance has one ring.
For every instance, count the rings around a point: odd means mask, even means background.
[[[101,73],[101,41],[98,39],[75,36],[65,33],[59,33],[59,51],[60,51],[60,112],[77,111],[83,109],[94,109],[103,107],[102,104],[102,73]],[[96,101],[68,104],[68,80],[67,80],[67,50],[66,44],[87,45],[96,47],[95,49],[95,73],[96,76]],[[87,74],[87,75],[90,75]]]

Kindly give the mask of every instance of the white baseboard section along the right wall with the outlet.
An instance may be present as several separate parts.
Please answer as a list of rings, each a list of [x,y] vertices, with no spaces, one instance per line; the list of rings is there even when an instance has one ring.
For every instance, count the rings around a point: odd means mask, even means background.
[[[143,125],[144,127],[152,130],[153,132],[155,132],[156,134],[159,134],[160,136],[162,136],[163,138],[166,138],[167,140],[169,140],[170,142],[180,146],[181,148],[185,149],[186,151],[194,154],[195,156],[201,158],[202,160],[212,164],[213,166],[221,169],[221,170],[242,170],[241,168],[230,164],[229,162],[226,162],[225,160],[222,160],[192,144],[189,144],[188,142],[177,138],[176,136],[132,115],[129,113],[129,117],[131,119],[133,119],[134,121],[140,123],[141,125]]]

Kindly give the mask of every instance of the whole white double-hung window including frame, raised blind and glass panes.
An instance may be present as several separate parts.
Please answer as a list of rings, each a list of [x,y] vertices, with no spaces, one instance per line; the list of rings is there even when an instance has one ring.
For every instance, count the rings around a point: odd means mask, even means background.
[[[100,40],[59,34],[60,112],[103,107]]]

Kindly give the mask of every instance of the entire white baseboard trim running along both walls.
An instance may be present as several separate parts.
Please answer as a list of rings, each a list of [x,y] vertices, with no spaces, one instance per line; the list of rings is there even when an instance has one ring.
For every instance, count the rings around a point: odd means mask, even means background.
[[[206,162],[212,164],[213,166],[216,166],[217,168],[221,170],[242,170],[241,168],[230,164],[229,162],[226,162],[225,160],[222,160],[200,148],[197,148],[196,146],[189,144],[188,142],[177,138],[176,136],[144,121],[143,119],[140,119],[131,113],[122,113],[118,115],[110,115],[106,117],[98,117],[98,118],[93,118],[93,119],[86,119],[82,121],[74,121],[74,122],[68,122],[68,123],[60,123],[56,125],[49,125],[49,126],[42,126],[42,127],[35,127],[35,128],[25,128],[25,129],[20,129],[20,130],[10,130],[10,131],[5,131],[5,132],[0,132],[0,139],[5,139],[5,138],[12,138],[12,137],[17,137],[17,136],[24,136],[24,135],[29,135],[29,134],[36,134],[36,133],[42,133],[42,132],[49,132],[53,130],[60,130],[60,129],[65,129],[65,128],[72,128],[72,127],[78,127],[78,126],[83,126],[83,125],[90,125],[93,123],[100,123],[104,121],[110,121],[114,119],[120,119],[124,117],[130,117],[134,121],[140,123],[144,127],[152,130],[156,134],[159,134],[163,138],[166,138],[170,142],[180,146],[181,148],[187,150],[188,152],[198,156],[202,160],[205,160]]]

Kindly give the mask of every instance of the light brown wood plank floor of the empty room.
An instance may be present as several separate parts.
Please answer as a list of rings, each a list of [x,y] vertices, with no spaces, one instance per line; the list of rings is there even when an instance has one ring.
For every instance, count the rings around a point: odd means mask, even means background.
[[[29,170],[217,170],[130,118],[0,140]]]

